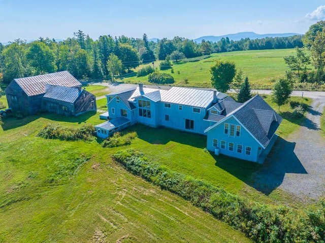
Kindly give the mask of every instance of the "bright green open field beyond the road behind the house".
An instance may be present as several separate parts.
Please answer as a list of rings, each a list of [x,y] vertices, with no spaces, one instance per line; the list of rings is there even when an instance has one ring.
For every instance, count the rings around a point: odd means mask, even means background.
[[[293,54],[295,54],[295,49],[214,53],[211,54],[210,58],[197,62],[174,63],[172,66],[174,74],[171,73],[171,70],[160,72],[171,74],[175,79],[175,84],[173,84],[175,86],[211,87],[210,67],[216,60],[229,60],[235,62],[237,69],[241,68],[248,76],[252,88],[270,88],[273,84],[272,81],[283,76],[285,71],[288,70],[283,57]],[[159,63],[160,61],[155,61],[155,67],[159,68]],[[136,71],[143,66],[137,67]],[[188,83],[185,83],[185,79],[188,80]],[[122,81],[129,83],[148,83],[148,77],[138,78],[134,76],[123,78]]]

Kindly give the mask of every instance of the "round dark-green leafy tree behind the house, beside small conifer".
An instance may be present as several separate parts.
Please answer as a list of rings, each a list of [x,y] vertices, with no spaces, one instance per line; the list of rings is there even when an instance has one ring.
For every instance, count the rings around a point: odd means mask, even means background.
[[[236,65],[230,61],[218,60],[211,66],[210,72],[212,86],[220,92],[225,92],[236,75]]]

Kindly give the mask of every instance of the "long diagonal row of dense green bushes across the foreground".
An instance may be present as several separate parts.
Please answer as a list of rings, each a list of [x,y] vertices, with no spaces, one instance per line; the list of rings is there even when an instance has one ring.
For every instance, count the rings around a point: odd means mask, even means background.
[[[134,175],[183,197],[255,242],[325,242],[325,202],[318,210],[299,214],[286,206],[271,207],[233,195],[151,163],[132,149],[120,151],[113,158]]]

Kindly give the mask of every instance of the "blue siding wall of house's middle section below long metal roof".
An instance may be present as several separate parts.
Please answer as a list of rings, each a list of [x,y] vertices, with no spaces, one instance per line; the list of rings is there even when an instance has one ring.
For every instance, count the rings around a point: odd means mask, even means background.
[[[191,106],[182,106],[182,110],[179,110],[179,106],[171,103],[171,108],[166,108],[165,102],[159,102],[159,125],[204,134],[204,130],[210,125],[210,122],[204,121],[206,109],[200,108],[200,113],[196,113]],[[165,115],[169,115],[169,121],[165,120]],[[194,121],[193,129],[185,129],[185,119]]]

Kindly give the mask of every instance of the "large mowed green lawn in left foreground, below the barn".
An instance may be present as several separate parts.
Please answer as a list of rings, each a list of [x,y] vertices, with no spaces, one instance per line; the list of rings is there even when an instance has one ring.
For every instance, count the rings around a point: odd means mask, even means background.
[[[76,127],[101,121],[94,113],[5,119],[0,128],[0,242],[250,242],[113,162],[111,154],[121,148],[104,149],[96,140],[37,137],[48,122]],[[138,138],[134,146],[141,143],[148,142]],[[89,160],[73,167],[79,158]]]

